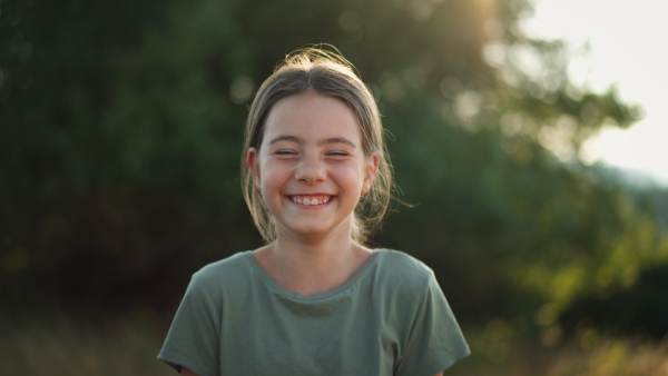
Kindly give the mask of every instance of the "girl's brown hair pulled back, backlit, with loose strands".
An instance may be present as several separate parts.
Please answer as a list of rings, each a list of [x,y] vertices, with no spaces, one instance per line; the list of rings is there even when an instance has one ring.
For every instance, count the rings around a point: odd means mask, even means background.
[[[263,141],[265,120],[281,99],[313,90],[344,100],[362,130],[362,148],[370,158],[377,155],[380,165],[369,192],[360,199],[353,218],[353,239],[364,243],[381,225],[390,207],[393,187],[392,167],[385,149],[384,129],[375,100],[369,88],[355,75],[353,65],[332,47],[304,48],[286,56],[274,73],[259,87],[246,120],[242,149],[242,188],[255,226],[267,243],[276,238],[274,219],[253,184],[253,174],[246,164],[249,148]]]

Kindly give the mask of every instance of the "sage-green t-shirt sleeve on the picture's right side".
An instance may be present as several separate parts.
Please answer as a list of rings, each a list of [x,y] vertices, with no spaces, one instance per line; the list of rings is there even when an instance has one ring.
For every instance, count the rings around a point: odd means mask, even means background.
[[[432,376],[471,352],[433,273],[418,303],[395,375]]]

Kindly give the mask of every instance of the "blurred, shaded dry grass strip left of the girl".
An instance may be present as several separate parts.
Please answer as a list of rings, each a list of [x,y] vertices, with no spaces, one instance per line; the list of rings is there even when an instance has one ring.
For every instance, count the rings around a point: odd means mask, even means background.
[[[169,375],[156,359],[160,339],[146,325],[105,328],[68,319],[0,323],[0,375]]]

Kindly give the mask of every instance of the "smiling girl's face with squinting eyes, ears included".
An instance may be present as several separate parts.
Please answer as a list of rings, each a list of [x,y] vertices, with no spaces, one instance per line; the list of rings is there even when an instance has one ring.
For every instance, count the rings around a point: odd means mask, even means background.
[[[279,100],[259,150],[247,159],[277,236],[350,234],[352,214],[375,177],[379,156],[364,156],[353,111],[313,91]]]

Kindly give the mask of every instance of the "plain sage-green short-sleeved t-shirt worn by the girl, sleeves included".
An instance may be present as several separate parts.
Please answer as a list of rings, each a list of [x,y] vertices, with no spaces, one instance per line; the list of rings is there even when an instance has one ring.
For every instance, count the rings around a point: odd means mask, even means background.
[[[158,358],[200,376],[431,376],[469,354],[432,270],[406,254],[375,250],[303,296],[245,251],[193,276]]]

